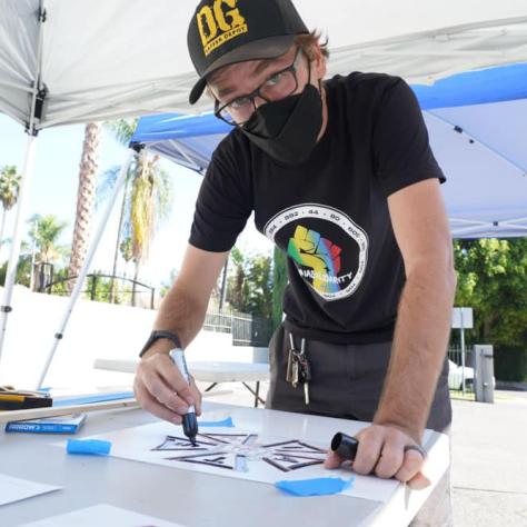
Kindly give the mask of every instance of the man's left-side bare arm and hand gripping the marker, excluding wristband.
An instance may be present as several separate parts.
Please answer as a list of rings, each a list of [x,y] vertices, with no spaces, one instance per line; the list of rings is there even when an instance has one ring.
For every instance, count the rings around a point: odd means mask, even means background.
[[[228,252],[209,252],[188,246],[180,274],[159,308],[153,329],[178,335],[186,348],[200,330],[210,292]],[[191,381],[185,381],[168,352],[173,344],[159,339],[142,356],[133,384],[141,407],[172,422],[181,422],[189,405],[200,414],[201,396]]]

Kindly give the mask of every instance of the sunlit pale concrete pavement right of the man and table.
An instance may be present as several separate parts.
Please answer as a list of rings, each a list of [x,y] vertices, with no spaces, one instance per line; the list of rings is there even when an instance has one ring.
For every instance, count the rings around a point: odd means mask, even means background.
[[[527,526],[527,394],[453,407],[456,527]]]

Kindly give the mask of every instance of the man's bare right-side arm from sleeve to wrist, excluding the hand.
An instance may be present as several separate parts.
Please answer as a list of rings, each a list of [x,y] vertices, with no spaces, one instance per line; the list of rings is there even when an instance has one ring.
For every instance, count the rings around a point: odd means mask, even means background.
[[[436,179],[395,192],[388,206],[407,280],[375,422],[392,424],[420,441],[450,332],[451,236]]]

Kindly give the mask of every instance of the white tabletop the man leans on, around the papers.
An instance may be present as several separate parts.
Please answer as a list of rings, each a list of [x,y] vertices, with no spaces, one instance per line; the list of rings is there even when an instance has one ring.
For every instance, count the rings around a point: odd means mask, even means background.
[[[231,416],[237,427],[328,444],[337,431],[354,434],[365,424],[276,410],[206,402],[205,418]],[[76,438],[155,422],[139,409],[88,416]],[[446,469],[447,438],[428,434],[425,447],[436,461],[437,481]],[[110,504],[187,526],[390,526],[407,525],[429,490],[399,485],[387,504],[342,495],[295,498],[272,485],[112,457],[67,455],[63,437],[0,431],[0,473],[62,489],[0,507],[0,525],[17,526],[97,504]],[[103,526],[98,526],[103,527]]]

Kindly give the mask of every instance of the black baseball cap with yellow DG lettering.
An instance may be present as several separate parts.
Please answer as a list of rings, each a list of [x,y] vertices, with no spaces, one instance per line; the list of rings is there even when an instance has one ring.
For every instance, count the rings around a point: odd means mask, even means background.
[[[274,59],[291,47],[296,34],[308,32],[290,0],[201,0],[187,34],[199,74],[189,102],[201,97],[206,77],[219,68]]]

